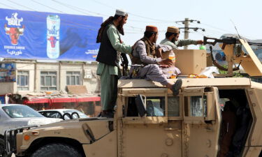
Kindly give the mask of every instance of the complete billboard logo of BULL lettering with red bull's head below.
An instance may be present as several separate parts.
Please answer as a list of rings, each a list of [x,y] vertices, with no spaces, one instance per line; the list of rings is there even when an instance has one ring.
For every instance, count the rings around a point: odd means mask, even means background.
[[[17,45],[18,39],[24,33],[24,25],[21,27],[21,22],[23,18],[17,18],[18,13],[13,13],[10,18],[6,17],[6,21],[8,21],[9,26],[16,26],[16,27],[8,27],[7,24],[4,25],[4,29],[6,34],[10,36],[12,45]]]

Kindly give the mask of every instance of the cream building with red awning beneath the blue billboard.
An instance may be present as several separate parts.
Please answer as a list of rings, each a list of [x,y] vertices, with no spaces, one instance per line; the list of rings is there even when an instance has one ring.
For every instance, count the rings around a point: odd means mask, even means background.
[[[0,95],[8,97],[5,103],[31,105],[35,110],[75,108],[95,116],[101,106],[96,64],[2,61],[0,67],[15,67],[15,76],[0,82]],[[5,73],[9,72],[0,71]]]

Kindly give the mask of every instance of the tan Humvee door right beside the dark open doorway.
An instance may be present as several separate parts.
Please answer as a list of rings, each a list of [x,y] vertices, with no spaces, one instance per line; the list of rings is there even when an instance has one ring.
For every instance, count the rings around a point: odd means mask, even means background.
[[[182,91],[182,156],[217,156],[221,113],[216,87]]]

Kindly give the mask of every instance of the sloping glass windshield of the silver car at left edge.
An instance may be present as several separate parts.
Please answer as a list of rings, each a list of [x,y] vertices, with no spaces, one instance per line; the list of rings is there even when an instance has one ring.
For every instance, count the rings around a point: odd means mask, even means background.
[[[36,112],[31,107],[26,105],[11,105],[2,107],[11,118],[24,118],[24,117],[43,117],[42,114]]]

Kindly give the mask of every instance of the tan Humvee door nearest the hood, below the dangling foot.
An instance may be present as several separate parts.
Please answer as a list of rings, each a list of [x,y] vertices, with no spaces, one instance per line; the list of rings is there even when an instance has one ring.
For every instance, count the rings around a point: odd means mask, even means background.
[[[138,114],[138,94],[143,97],[145,115]],[[123,89],[123,95],[124,117],[119,156],[181,156],[180,98],[173,98],[166,88]],[[175,106],[170,112],[169,104]],[[173,118],[171,121],[168,121],[168,115]]]

